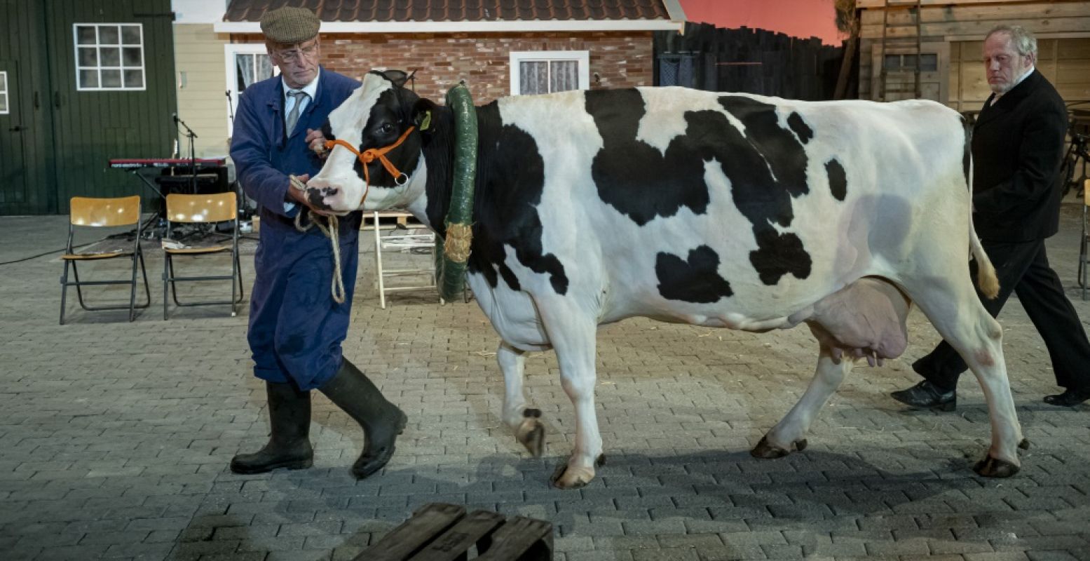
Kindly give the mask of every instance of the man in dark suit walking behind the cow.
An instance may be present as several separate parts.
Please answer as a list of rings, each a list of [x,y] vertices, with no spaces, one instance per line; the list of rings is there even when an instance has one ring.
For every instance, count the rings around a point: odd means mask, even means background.
[[[981,298],[984,307],[998,315],[1010,293],[1018,295],[1064,387],[1044,403],[1070,407],[1090,399],[1090,343],[1044,252],[1045,238],[1059,228],[1067,110],[1036,61],[1037,39],[1021,26],[1000,25],[984,39],[992,95],[972,133],[972,219],[1000,277],[998,296]],[[954,410],[967,369],[960,355],[944,341],[912,369],[924,380],[893,398]]]

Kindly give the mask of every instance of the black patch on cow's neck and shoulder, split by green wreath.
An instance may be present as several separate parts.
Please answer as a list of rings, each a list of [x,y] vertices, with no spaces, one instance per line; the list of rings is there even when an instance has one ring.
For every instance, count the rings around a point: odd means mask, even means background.
[[[441,234],[450,207],[453,119],[449,109],[435,107],[432,111],[429,129],[433,130],[424,135],[427,215]],[[504,262],[505,246],[510,246],[519,263],[549,275],[553,289],[559,295],[567,294],[564,264],[542,250],[544,226],[536,205],[545,187],[545,160],[537,143],[522,129],[504,124],[495,103],[477,107],[476,114],[477,181],[469,272],[484,275],[489,286],[496,287],[502,278],[512,290],[521,290],[514,272]]]

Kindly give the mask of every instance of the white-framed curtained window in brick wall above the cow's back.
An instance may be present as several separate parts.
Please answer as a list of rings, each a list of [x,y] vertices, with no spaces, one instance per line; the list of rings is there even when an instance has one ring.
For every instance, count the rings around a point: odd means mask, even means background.
[[[586,50],[511,51],[511,94],[549,94],[591,86]]]

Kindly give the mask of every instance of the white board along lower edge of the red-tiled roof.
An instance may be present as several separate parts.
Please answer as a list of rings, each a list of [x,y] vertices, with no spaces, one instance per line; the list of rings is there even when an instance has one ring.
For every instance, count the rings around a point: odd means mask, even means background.
[[[676,0],[666,0],[670,3]],[[670,12],[673,17],[674,13]],[[683,16],[683,12],[682,12]],[[322,33],[676,32],[678,20],[504,20],[491,22],[322,22]],[[259,34],[258,22],[216,22],[216,33]]]

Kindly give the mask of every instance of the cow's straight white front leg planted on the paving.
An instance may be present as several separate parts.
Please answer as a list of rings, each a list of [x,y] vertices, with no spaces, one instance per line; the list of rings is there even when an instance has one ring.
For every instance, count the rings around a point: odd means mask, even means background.
[[[553,485],[578,489],[594,479],[594,468],[602,465],[602,433],[594,410],[595,335],[597,324],[586,310],[567,302],[537,301],[537,310],[560,365],[560,383],[576,407],[576,447],[566,465],[553,474]]]

